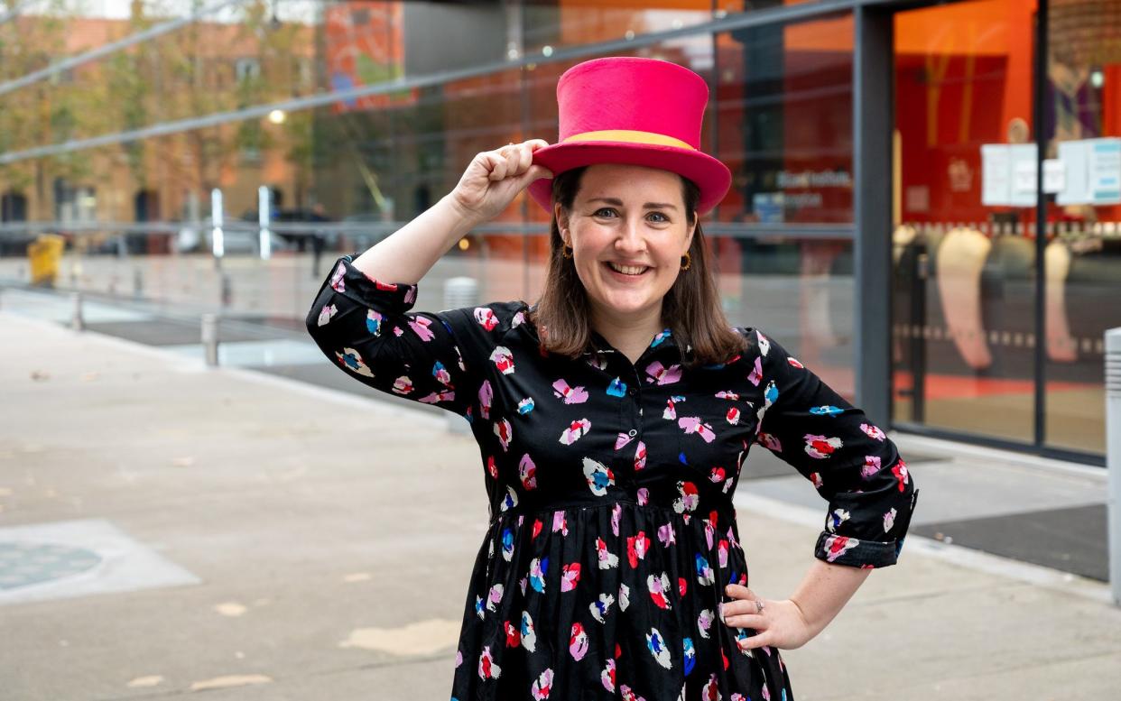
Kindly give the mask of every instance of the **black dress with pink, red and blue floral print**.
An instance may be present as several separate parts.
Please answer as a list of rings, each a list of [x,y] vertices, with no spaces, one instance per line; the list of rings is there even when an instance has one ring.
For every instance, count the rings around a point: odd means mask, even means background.
[[[720,618],[748,585],[732,494],[752,445],[828,501],[814,557],[893,564],[918,490],[884,433],[754,328],[691,370],[667,330],[632,364],[595,336],[543,352],[525,302],[410,312],[414,284],[344,256],[307,317],[356,380],[462,414],[490,527],[467,588],[452,699],[793,701],[779,651]]]

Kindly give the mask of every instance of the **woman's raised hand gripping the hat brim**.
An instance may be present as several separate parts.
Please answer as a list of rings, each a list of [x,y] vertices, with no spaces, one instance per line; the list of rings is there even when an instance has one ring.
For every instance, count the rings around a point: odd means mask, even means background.
[[[543,139],[530,139],[479,153],[452,190],[453,202],[465,216],[489,222],[530,183],[553,177],[547,168],[532,165],[534,151],[547,146]]]

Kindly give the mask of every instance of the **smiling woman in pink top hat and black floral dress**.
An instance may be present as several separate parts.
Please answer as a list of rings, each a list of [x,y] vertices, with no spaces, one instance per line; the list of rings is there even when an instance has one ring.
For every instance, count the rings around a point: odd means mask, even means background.
[[[492,521],[453,699],[791,701],[778,648],[895,563],[917,490],[859,409],[724,319],[698,217],[730,174],[697,149],[704,81],[604,58],[557,97],[557,144],[479,153],[434,207],[340,260],[308,329],[358,380],[471,422]],[[553,214],[538,303],[410,312],[436,260],[527,187]],[[747,586],[732,494],[754,442],[830,502],[787,599]]]

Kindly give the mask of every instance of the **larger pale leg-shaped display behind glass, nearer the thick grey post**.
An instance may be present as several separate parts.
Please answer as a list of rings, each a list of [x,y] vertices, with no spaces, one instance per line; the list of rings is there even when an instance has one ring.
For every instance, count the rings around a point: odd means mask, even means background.
[[[979,231],[955,228],[942,240],[936,277],[949,336],[965,364],[974,370],[992,365],[981,323],[981,269],[992,243]]]

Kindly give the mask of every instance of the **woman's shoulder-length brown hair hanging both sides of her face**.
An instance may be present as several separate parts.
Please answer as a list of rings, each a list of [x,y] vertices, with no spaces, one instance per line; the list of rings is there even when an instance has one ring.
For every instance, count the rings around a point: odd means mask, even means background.
[[[572,209],[580,191],[580,181],[587,169],[574,168],[553,180],[553,203]],[[701,190],[687,178],[682,178],[685,211],[694,213]],[[545,288],[537,305],[529,311],[529,320],[539,331],[541,347],[550,353],[576,357],[592,347],[589,324],[587,291],[576,274],[573,259],[565,258],[564,239],[556,216],[549,224],[549,262]],[[747,343],[728,323],[720,306],[716,282],[712,275],[712,254],[705,243],[701,223],[697,222],[689,244],[689,269],[683,270],[663,298],[661,317],[683,356],[686,345],[692,346],[693,357],[685,358],[691,366],[724,363],[741,353]]]

